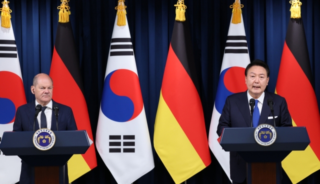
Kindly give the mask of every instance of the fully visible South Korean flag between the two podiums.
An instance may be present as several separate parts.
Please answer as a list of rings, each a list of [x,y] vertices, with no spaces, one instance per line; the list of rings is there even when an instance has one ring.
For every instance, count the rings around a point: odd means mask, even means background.
[[[95,143],[116,182],[129,184],[154,162],[128,22],[118,26],[116,19]]]

